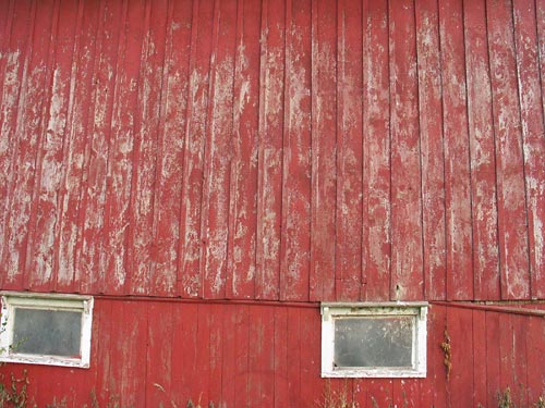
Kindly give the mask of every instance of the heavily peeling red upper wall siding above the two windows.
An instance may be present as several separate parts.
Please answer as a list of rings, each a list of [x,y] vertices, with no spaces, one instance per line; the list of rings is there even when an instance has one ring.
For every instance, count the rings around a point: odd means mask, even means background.
[[[542,0],[0,3],[0,286],[545,298]]]

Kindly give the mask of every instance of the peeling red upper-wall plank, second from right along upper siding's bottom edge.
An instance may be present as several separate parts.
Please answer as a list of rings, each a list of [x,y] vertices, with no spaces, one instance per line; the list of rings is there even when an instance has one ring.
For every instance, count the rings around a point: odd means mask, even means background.
[[[526,299],[529,247],[512,10],[508,0],[488,0],[486,10],[496,134],[501,297]]]

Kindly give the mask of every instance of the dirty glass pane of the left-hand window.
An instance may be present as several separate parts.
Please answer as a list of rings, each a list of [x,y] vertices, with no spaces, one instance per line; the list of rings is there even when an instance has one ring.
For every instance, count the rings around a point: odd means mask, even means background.
[[[80,356],[81,335],[82,312],[15,309],[15,353],[76,357]]]

